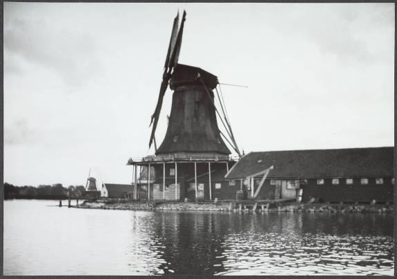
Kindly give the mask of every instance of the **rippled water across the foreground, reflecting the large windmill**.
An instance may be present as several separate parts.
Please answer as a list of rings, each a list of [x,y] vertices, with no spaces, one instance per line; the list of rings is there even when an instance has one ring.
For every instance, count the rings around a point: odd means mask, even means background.
[[[394,275],[393,214],[4,203],[4,275]]]

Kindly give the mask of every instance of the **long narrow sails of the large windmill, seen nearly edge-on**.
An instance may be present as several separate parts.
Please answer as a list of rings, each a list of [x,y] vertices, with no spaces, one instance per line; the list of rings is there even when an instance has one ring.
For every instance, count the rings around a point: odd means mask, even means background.
[[[178,28],[178,24],[177,24],[179,21],[179,13],[177,14],[177,17],[175,17],[175,19],[174,19],[173,30],[171,32],[171,39],[170,39],[170,43],[168,45],[166,61],[164,63],[164,74],[163,74],[162,83],[160,85],[159,98],[157,99],[157,105],[155,108],[155,112],[153,113],[152,118],[151,118],[151,125],[153,123],[153,127],[152,127],[151,139],[149,141],[149,148],[151,147],[151,145],[153,143],[153,139],[155,137],[157,121],[159,120],[159,114],[160,114],[160,111],[162,110],[162,103],[163,103],[163,99],[164,99],[164,94],[166,93],[166,89],[168,87],[168,81],[171,78],[171,72],[172,72],[173,68],[175,67],[175,65],[177,64],[177,60],[179,58],[180,47],[181,47],[181,43],[182,43],[182,32],[183,32],[185,18],[186,18],[186,12],[184,11],[180,28]]]

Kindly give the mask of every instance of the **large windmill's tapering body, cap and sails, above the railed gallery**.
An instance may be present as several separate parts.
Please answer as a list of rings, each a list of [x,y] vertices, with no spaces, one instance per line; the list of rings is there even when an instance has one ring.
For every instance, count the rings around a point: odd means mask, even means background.
[[[157,105],[151,116],[153,127],[149,147],[153,142],[155,143],[156,155],[175,153],[229,155],[231,152],[226,147],[225,140],[240,156],[240,150],[235,143],[231,125],[219,94],[218,100],[222,107],[223,117],[215,107],[213,90],[216,90],[219,85],[217,76],[200,68],[178,63],[185,20],[186,12],[184,11],[180,24],[179,12],[173,21]],[[171,115],[166,136],[157,149],[155,130],[168,84],[174,91]],[[224,125],[227,136],[220,132],[216,114]]]

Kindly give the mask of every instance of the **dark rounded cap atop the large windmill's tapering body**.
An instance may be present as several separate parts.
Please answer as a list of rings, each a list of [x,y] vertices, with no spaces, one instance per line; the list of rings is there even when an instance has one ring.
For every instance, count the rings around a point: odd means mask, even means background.
[[[200,79],[204,82],[206,87],[211,88],[211,90],[213,90],[218,83],[217,76],[214,76],[210,72],[189,65],[177,64],[171,76],[170,87],[174,90],[183,85],[202,85],[198,76],[200,76]]]

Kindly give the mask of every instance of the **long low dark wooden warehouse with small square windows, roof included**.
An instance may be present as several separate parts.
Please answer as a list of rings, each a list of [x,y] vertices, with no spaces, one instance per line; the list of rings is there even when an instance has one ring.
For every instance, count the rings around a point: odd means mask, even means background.
[[[260,187],[262,174],[269,167]],[[307,202],[390,202],[394,193],[394,147],[251,152],[226,174],[246,198],[298,198]],[[258,188],[260,187],[259,191]]]

